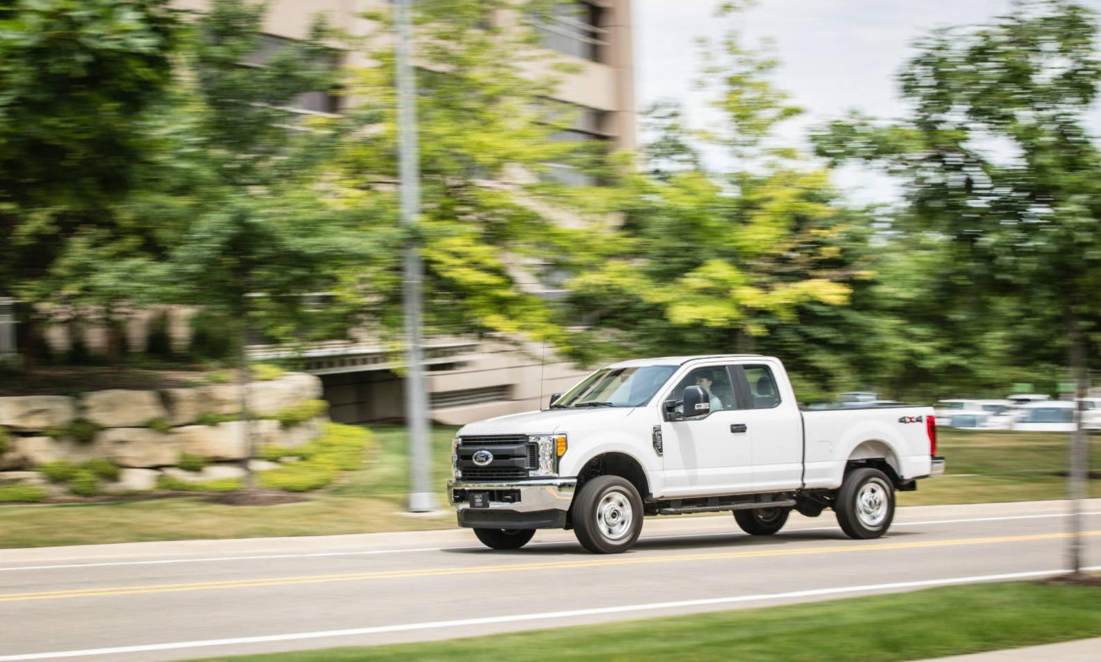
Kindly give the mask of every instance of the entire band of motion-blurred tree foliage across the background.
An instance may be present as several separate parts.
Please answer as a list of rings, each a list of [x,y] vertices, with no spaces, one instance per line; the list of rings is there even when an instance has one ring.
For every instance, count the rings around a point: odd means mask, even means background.
[[[388,40],[319,19],[265,51],[263,8],[246,0],[201,15],[6,3],[0,294],[28,304],[23,346],[58,306],[108,329],[197,306],[195,352],[219,357],[247,333],[396,342],[415,240],[428,333],[545,340],[581,363],[775,354],[804,400],[1054,391],[1068,356],[1098,367],[1090,11],[1021,2],[929,35],[898,79],[911,115],[818,126],[814,154],[775,130],[800,112],[772,84],[777,63],[731,33],[702,47],[721,125],[661,102],[632,155],[562,140],[578,118],[547,98],[565,65],[533,31],[486,21],[554,4],[416,3],[423,213],[406,229]],[[372,65],[335,68],[338,46]],[[347,112],[290,110],[317,91]],[[905,200],[850,203],[830,170],[853,161],[897,177]]]

